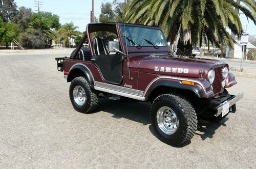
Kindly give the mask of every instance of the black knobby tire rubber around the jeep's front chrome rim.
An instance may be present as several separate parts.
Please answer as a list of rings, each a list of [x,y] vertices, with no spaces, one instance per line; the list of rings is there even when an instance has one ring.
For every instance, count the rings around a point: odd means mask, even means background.
[[[157,111],[160,107],[170,107],[178,117],[178,127],[175,133],[165,134],[158,126]],[[190,142],[197,130],[197,115],[194,107],[185,97],[178,94],[163,94],[158,96],[152,103],[150,111],[152,125],[162,142],[180,147]]]

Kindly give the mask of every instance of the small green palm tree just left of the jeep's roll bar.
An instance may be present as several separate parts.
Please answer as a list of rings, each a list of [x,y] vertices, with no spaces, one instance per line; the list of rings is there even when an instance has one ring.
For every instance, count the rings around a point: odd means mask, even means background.
[[[76,31],[77,29],[78,26],[74,26],[73,22],[66,23],[60,27],[57,39],[63,39],[65,41],[65,45],[69,41],[69,47],[71,47],[69,39],[79,35],[79,32]]]

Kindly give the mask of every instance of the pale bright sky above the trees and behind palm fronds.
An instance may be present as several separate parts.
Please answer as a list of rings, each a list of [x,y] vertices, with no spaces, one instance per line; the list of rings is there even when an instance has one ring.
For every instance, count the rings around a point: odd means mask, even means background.
[[[59,16],[61,24],[73,22],[79,26],[79,31],[86,30],[86,25],[90,23],[90,11],[92,10],[91,0],[36,0],[42,2],[41,11],[51,12]],[[34,0],[15,0],[18,7],[31,8],[36,12]],[[94,15],[100,14],[100,5],[102,2],[112,2],[111,0],[94,0]],[[242,25],[248,24],[249,35],[256,35],[256,26],[249,19],[249,23],[244,14],[240,14]]]

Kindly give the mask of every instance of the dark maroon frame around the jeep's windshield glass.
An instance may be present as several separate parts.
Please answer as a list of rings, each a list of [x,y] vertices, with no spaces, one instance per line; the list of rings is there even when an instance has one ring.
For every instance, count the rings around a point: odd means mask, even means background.
[[[153,27],[153,26],[147,26],[147,25],[132,25],[132,24],[122,24],[122,25],[120,25],[120,34],[122,35],[122,27],[124,27],[124,26],[126,26],[126,27],[139,27],[139,28],[144,28],[144,29],[152,29],[152,30],[158,30],[158,31],[160,31],[161,32],[161,34],[162,34],[162,36],[163,36],[163,41],[164,41],[164,43],[165,43],[165,46],[164,45],[161,45],[161,46],[159,46],[159,45],[157,45],[158,47],[157,48],[166,48],[166,47],[168,47],[168,43],[167,43],[167,41],[166,41],[166,38],[165,38],[165,36],[164,36],[164,33],[163,33],[163,31],[159,28],[159,27]],[[126,46],[126,40],[125,40],[125,38],[124,37],[120,37],[120,39],[122,39],[122,41],[123,41],[123,43],[124,43],[124,45]],[[132,40],[134,40],[134,39],[132,39]],[[143,39],[144,40],[144,39]],[[154,42],[153,42],[154,43]],[[156,46],[154,46],[154,45],[147,45],[147,46],[144,46],[144,45],[141,45],[140,44],[140,46],[141,47],[154,47],[154,48],[156,48]],[[136,47],[136,48],[138,48],[138,47],[140,47],[140,46],[134,46],[134,45],[127,45],[127,47]]]

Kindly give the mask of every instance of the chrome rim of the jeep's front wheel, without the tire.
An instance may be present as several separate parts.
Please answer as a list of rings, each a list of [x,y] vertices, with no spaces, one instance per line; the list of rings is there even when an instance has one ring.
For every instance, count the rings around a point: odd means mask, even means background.
[[[172,135],[179,126],[179,120],[170,107],[163,106],[157,111],[157,124],[162,132]]]

